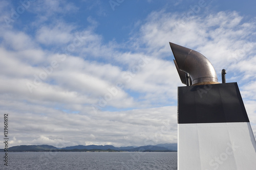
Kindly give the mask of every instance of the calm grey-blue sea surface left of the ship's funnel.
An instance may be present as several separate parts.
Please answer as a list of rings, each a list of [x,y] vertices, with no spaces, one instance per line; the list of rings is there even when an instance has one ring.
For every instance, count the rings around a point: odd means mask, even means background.
[[[0,169],[177,169],[177,152],[9,152]],[[2,154],[1,154],[2,157]]]

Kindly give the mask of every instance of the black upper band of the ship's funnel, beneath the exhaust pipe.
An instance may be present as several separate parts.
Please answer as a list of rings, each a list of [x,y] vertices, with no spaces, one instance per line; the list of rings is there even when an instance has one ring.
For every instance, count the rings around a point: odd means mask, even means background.
[[[178,87],[178,124],[249,122],[237,83]]]

